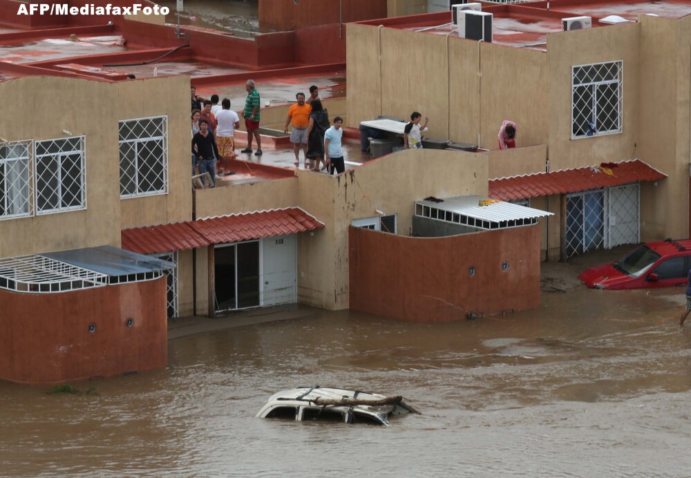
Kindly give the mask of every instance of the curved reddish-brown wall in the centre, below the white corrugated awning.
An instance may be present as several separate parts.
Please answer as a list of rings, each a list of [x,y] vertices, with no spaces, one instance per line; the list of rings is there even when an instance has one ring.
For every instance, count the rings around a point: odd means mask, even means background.
[[[350,309],[413,322],[540,304],[537,225],[411,238],[350,227]],[[502,262],[509,270],[502,271]],[[468,268],[475,267],[475,276]]]

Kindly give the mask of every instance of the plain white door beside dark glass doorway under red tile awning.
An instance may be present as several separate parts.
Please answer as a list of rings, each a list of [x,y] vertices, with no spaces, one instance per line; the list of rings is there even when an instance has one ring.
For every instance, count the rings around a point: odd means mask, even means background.
[[[263,306],[297,302],[297,236],[263,239]]]

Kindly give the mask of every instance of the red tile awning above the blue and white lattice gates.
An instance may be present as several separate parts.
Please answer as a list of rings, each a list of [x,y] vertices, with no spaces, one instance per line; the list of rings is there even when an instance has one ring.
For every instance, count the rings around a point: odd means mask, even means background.
[[[636,181],[656,181],[666,177],[666,174],[645,162],[632,160],[491,180],[489,195],[494,199],[509,201],[543,195],[576,193]]]

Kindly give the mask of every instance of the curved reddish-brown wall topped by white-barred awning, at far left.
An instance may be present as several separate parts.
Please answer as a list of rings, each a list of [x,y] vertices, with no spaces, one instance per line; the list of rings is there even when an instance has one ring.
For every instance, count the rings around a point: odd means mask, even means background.
[[[0,310],[0,379],[55,383],[168,363],[165,278],[56,294],[0,290]]]

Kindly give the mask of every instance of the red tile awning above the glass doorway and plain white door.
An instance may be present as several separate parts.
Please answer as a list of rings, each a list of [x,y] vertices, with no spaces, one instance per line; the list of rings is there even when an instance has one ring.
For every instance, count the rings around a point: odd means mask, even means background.
[[[233,214],[160,226],[123,229],[122,249],[139,254],[184,251],[223,242],[238,242],[314,231],[324,224],[299,207]]]

